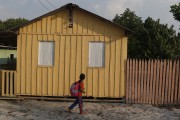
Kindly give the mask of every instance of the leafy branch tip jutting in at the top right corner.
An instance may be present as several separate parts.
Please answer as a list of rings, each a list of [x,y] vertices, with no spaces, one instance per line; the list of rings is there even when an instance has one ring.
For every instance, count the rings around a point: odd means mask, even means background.
[[[170,12],[173,13],[174,19],[180,22],[180,3],[170,6]]]

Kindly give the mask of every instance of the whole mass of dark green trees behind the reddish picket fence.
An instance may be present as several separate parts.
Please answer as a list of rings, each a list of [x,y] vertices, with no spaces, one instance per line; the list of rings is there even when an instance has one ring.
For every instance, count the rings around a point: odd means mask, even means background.
[[[128,57],[143,59],[176,58],[180,54],[180,34],[173,26],[148,17],[144,22],[135,12],[126,9],[113,21],[133,32],[128,36]]]

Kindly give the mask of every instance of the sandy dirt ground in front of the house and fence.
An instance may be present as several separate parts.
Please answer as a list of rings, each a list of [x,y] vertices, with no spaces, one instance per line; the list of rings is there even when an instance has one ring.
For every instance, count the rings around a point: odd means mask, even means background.
[[[72,102],[0,100],[0,120],[180,120],[180,109],[152,105],[84,102],[87,113],[79,115],[78,106],[72,113]]]

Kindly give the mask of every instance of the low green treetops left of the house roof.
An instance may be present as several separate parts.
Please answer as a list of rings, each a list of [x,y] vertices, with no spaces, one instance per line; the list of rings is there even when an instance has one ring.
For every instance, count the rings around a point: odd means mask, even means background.
[[[9,30],[11,28],[17,27],[23,23],[26,23],[28,20],[24,18],[10,18],[7,19],[6,21],[0,20],[0,30]]]

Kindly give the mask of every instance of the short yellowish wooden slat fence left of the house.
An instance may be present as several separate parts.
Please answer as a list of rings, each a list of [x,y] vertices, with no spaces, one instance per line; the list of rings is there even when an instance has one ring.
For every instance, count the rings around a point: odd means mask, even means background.
[[[16,71],[0,70],[0,95],[13,97],[16,95]]]

